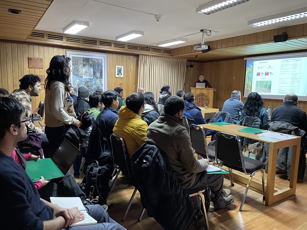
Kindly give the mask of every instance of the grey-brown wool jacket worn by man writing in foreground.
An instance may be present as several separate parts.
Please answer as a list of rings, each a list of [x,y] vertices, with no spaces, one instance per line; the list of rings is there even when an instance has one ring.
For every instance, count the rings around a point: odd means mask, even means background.
[[[167,160],[184,189],[191,187],[196,174],[208,167],[205,159],[196,159],[182,119],[162,112],[160,117],[148,126],[146,139],[166,153]]]

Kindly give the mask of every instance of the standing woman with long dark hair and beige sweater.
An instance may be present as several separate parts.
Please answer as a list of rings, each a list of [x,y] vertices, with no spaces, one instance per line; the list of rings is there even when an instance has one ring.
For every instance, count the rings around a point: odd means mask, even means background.
[[[50,155],[64,140],[67,125],[81,126],[76,119],[73,100],[68,94],[71,74],[70,58],[56,55],[50,61],[45,79],[45,132],[50,144]]]

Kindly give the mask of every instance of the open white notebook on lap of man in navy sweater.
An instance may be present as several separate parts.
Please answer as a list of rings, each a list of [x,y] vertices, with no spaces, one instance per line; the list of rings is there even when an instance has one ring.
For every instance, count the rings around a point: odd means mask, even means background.
[[[87,214],[80,197],[50,197],[50,201],[52,204],[59,205],[62,208],[71,209],[78,206],[79,211],[84,213],[84,220],[72,224],[72,227],[97,224],[97,220]]]

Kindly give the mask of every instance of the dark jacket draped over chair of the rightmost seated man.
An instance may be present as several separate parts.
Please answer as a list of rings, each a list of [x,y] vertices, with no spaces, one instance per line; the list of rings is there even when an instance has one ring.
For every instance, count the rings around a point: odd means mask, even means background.
[[[304,136],[305,134],[304,130],[299,129],[296,126],[293,126],[286,121],[273,121],[269,124],[266,124],[265,129],[273,132],[290,134],[293,136]],[[268,171],[269,151],[270,151],[270,144],[264,143],[264,151],[261,161],[266,166],[266,172]],[[290,174],[291,174],[292,153],[293,153],[293,146],[290,146],[279,149],[277,154],[276,167],[281,169],[282,171],[286,171],[288,179],[290,179]],[[304,179],[305,168],[306,168],[305,147],[304,144],[301,142],[300,159],[299,159],[298,173],[297,173],[298,179],[301,180]]]

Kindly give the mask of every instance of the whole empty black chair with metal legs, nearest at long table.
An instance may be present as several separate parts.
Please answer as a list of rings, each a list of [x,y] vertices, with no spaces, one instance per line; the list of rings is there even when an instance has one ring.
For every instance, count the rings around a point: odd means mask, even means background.
[[[216,162],[223,164],[229,169],[230,183],[234,186],[232,179],[232,169],[250,175],[248,180],[239,211],[242,207],[247,195],[247,191],[251,184],[251,180],[256,172],[261,171],[262,174],[262,191],[263,200],[265,199],[264,190],[264,170],[263,163],[243,156],[240,140],[237,136],[219,132],[216,135]]]

